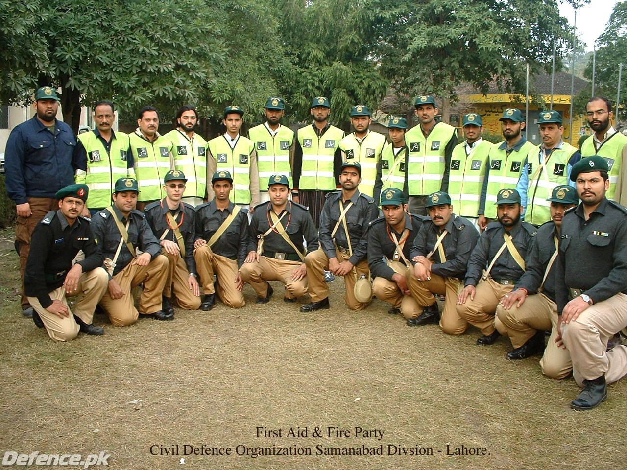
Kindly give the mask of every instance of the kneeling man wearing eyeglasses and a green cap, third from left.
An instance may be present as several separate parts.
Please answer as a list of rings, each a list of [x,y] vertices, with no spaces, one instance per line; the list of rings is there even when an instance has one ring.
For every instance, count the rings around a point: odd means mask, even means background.
[[[198,310],[200,288],[194,261],[194,207],[182,202],[187,178],[182,171],[170,170],[163,179],[166,197],[145,208],[146,222],[159,238],[169,260],[162,310],[174,315],[174,300],[185,310]]]

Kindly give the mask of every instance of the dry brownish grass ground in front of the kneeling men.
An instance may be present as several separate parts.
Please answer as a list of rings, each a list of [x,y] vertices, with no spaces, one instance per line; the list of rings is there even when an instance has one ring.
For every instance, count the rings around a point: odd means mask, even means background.
[[[478,331],[448,337],[409,328],[375,300],[345,308],[341,279],[332,308],[298,313],[275,298],[230,310],[177,311],[105,336],[54,343],[19,314],[11,233],[0,246],[0,452],[107,451],[115,469],[599,469],[627,456],[627,382],[575,412],[572,379],[546,379],[537,358],[507,362],[510,345],[475,345]],[[304,301],[304,300],[303,300]],[[129,402],[139,402],[132,404]],[[288,437],[290,427],[307,437]],[[257,427],[282,437],[257,436]],[[312,434],[318,427],[322,437]],[[327,428],[350,437],[328,437]],[[377,437],[354,437],[355,427]],[[157,453],[179,444],[179,456]],[[230,456],[184,455],[185,444],[230,447]],[[311,449],[310,456],[238,456],[236,447]],[[382,445],[383,456],[324,456],[317,447]],[[448,456],[485,447],[483,456]],[[388,446],[433,455],[387,455]],[[441,451],[441,452],[438,452]],[[451,450],[452,451],[452,450]],[[185,465],[179,466],[180,459]]]

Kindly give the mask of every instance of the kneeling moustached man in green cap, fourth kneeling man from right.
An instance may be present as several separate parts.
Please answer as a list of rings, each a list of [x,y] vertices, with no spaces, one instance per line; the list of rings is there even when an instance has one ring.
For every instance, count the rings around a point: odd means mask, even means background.
[[[439,321],[446,334],[461,335],[467,323],[457,315],[455,303],[479,232],[468,219],[453,214],[455,207],[446,192],[429,194],[426,207],[429,217],[421,224],[410,252],[414,266],[407,272],[407,282],[418,308],[406,316],[407,324]],[[434,294],[446,295],[442,318]]]

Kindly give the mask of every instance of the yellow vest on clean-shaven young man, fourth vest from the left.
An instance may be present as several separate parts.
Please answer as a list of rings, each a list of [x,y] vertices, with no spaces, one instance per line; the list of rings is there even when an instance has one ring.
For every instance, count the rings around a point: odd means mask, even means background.
[[[216,170],[227,170],[233,176],[231,201],[235,204],[250,204],[250,155],[255,150],[253,141],[240,135],[231,149],[226,137],[218,135],[209,140],[207,145],[216,160]]]

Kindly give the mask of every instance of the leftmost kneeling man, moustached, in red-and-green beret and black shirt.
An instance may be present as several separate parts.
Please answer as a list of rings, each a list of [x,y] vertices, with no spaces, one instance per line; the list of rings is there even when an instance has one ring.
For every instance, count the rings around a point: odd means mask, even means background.
[[[73,340],[79,331],[97,336],[103,333],[92,320],[107,290],[108,276],[102,269],[102,253],[90,222],[80,217],[88,194],[85,184],[72,184],[56,193],[58,209],[48,212],[35,227],[26,263],[24,291],[34,308],[33,321],[56,341]],[[72,264],[79,250],[85,259]],[[84,296],[72,315],[66,295],[81,293]]]

